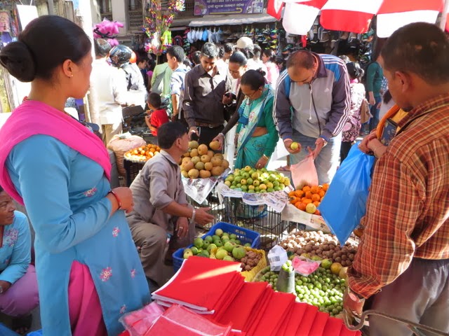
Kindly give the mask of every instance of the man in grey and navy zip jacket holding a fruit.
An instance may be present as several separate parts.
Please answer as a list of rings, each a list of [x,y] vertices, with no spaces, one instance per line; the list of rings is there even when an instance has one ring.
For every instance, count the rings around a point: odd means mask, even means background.
[[[344,62],[333,55],[293,52],[274,98],[274,123],[295,164],[314,148],[319,183],[329,183],[340,163],[341,132],[351,94]],[[290,147],[293,142],[300,146]]]

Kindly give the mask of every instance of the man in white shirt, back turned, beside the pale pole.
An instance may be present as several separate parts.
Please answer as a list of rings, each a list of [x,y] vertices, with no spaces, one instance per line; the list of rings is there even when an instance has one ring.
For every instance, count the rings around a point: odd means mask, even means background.
[[[94,40],[95,60],[92,64],[91,89],[100,112],[102,137],[107,144],[121,133],[121,105],[126,104],[125,71],[107,63],[111,45],[103,38]]]

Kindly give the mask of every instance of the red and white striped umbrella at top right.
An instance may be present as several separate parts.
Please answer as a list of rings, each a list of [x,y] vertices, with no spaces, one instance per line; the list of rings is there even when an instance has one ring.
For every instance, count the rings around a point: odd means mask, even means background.
[[[412,22],[435,23],[444,0],[269,0],[267,13],[281,18],[286,31],[304,35],[321,10],[320,23],[325,29],[368,31],[377,15],[377,36],[388,37],[399,27]],[[449,30],[449,25],[446,25]]]

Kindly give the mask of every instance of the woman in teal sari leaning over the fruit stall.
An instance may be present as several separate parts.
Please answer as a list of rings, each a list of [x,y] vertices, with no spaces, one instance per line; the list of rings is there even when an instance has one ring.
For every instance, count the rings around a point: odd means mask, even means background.
[[[240,90],[245,94],[239,113],[234,113],[222,133],[214,140],[225,141],[225,134],[237,125],[237,158],[234,168],[266,167],[279,139],[273,121],[273,89],[262,70],[248,70],[241,77]]]

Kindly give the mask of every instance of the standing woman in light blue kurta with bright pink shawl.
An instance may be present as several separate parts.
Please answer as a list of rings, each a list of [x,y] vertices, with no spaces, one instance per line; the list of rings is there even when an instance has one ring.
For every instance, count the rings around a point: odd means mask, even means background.
[[[88,90],[91,42],[69,20],[42,16],[0,63],[32,81],[0,130],[0,183],[36,232],[43,335],[118,335],[120,316],[149,302],[149,288],[123,212],[130,190],[110,191],[105,147],[64,112],[67,97]]]

